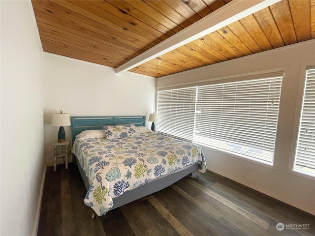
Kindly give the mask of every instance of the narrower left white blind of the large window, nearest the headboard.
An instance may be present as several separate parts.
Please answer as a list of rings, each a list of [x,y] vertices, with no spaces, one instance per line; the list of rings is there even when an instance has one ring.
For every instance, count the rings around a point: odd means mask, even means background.
[[[157,131],[192,140],[196,87],[158,91]]]

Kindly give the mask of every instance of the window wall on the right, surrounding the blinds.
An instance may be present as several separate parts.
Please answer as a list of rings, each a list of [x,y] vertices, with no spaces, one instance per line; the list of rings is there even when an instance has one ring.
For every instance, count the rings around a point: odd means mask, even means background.
[[[157,88],[283,71],[273,167],[258,165],[213,148],[203,147],[203,150],[209,170],[315,215],[314,178],[305,178],[291,171],[305,69],[312,64],[315,64],[315,40],[165,76],[157,80]]]

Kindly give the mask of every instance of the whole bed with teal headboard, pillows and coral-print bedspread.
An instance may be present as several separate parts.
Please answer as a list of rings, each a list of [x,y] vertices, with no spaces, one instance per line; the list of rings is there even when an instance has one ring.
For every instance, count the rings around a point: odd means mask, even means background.
[[[152,132],[145,122],[145,116],[71,118],[84,203],[98,216],[206,171],[199,146]]]

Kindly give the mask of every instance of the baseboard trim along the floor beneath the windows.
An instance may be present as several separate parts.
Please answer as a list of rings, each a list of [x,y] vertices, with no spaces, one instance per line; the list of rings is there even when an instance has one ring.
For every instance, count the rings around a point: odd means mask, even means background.
[[[267,195],[267,196],[269,196],[269,197],[272,197],[272,198],[274,198],[274,199],[277,199],[277,200],[280,201],[280,202],[283,202],[283,203],[285,203],[285,204],[288,204],[288,205],[290,205],[290,206],[292,206],[292,207],[296,207],[296,208],[298,208],[298,209],[300,209],[300,210],[303,210],[303,211],[305,211],[305,212],[307,212],[307,213],[309,213],[309,214],[311,214],[311,215],[315,215],[315,212],[310,211],[310,209],[306,209],[305,207],[298,206],[297,204],[291,203],[288,199],[285,199],[285,198],[283,198],[282,196],[279,196],[279,195],[274,194],[274,193],[272,193],[272,192],[269,192],[269,191],[267,191],[267,190],[265,190],[265,189],[262,189],[262,188],[259,188],[259,187],[257,187],[257,186],[254,186],[254,185],[252,185],[252,184],[250,184],[250,183],[248,183],[248,182],[246,182],[246,181],[243,181],[243,180],[241,180],[241,179],[235,178],[235,177],[230,176],[230,175],[228,175],[228,174],[226,174],[226,173],[223,173],[223,172],[221,172],[221,171],[218,171],[218,170],[215,170],[215,169],[212,169],[212,168],[208,168],[208,167],[207,167],[207,169],[208,169],[209,171],[215,173],[215,174],[218,174],[218,175],[222,176],[222,177],[229,178],[229,179],[231,179],[231,180],[233,180],[233,181],[235,181],[235,182],[238,182],[238,183],[240,183],[240,184],[242,184],[242,185],[244,185],[244,186],[246,186],[246,187],[252,188],[253,190],[255,190],[255,191],[257,191],[257,192],[260,192],[260,193],[265,194],[265,195]]]

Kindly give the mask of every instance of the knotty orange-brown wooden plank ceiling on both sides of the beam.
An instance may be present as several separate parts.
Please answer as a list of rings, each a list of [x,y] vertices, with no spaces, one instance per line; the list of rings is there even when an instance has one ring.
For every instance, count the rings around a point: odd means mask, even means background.
[[[225,4],[229,0],[32,0],[45,52],[112,68]],[[158,78],[313,38],[315,0],[282,0],[129,71]]]

